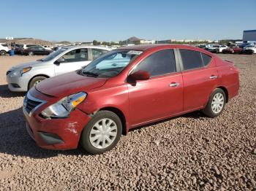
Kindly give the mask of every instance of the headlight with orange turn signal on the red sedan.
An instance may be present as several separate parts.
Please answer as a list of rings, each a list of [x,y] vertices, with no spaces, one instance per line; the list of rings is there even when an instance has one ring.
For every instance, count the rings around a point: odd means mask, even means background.
[[[80,92],[62,98],[56,104],[48,106],[48,108],[44,109],[41,112],[42,117],[46,119],[69,117],[70,112],[72,112],[75,107],[78,106],[78,104],[85,100],[86,95],[86,93]]]

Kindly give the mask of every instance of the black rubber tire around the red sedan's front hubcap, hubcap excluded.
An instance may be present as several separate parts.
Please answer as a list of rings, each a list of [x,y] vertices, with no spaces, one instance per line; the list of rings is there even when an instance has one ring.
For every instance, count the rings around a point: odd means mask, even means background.
[[[91,141],[89,140],[89,136],[91,133],[91,129],[94,128],[94,124],[97,123],[99,120],[108,118],[110,120],[113,120],[116,123],[117,126],[117,133],[116,133],[116,139],[113,140],[112,144],[110,144],[108,147],[104,149],[98,149],[97,147],[94,147],[91,144]],[[81,133],[80,136],[80,144],[85,149],[87,152],[97,155],[97,154],[102,154],[103,152],[107,152],[110,149],[113,149],[113,147],[116,147],[116,144],[118,143],[120,137],[121,137],[121,132],[122,132],[122,123],[120,118],[113,112],[110,111],[99,111],[97,114],[95,114],[89,123],[86,125],[86,127],[83,129],[83,132]]]

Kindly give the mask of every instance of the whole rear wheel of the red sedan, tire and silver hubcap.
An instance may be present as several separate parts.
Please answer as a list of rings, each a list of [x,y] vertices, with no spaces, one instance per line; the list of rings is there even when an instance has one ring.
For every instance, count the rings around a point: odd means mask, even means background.
[[[222,89],[217,88],[211,93],[208,104],[202,110],[208,117],[217,117],[222,113],[226,104],[226,94]]]

